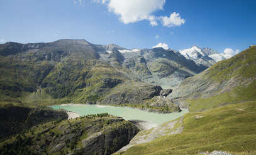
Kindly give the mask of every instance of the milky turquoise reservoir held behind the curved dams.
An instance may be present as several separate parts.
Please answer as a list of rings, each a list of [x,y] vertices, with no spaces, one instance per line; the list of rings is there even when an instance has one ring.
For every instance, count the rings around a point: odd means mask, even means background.
[[[114,116],[120,116],[126,120],[140,119],[143,121],[152,121],[156,124],[162,124],[167,121],[172,121],[183,116],[186,113],[189,113],[189,111],[187,111],[186,109],[183,109],[180,113],[158,114],[133,108],[86,104],[64,104],[51,107],[53,109],[65,109],[67,111],[74,111],[76,113],[79,113],[81,116],[87,114],[109,113]]]

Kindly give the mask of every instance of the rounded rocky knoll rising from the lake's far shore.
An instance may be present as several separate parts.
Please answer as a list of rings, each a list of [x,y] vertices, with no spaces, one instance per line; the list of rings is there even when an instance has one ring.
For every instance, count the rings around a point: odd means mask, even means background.
[[[170,90],[163,91],[160,86],[130,81],[118,84],[99,103],[130,106],[157,113],[180,112],[179,106],[172,103],[170,99],[165,98],[165,95],[169,94]],[[160,96],[161,93],[164,96]]]

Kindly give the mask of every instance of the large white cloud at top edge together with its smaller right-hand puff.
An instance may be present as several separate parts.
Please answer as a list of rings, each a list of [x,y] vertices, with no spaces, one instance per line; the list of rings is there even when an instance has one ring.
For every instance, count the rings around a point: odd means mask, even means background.
[[[79,0],[82,1],[82,0]],[[106,4],[109,12],[120,16],[120,21],[128,24],[142,20],[148,20],[150,25],[158,26],[157,21],[162,26],[181,26],[186,19],[182,19],[179,13],[173,12],[168,16],[153,16],[152,13],[164,10],[165,0],[92,0],[99,4]]]

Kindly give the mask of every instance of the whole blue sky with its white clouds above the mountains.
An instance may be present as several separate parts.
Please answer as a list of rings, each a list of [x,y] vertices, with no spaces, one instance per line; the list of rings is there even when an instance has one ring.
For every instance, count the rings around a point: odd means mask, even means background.
[[[86,39],[131,49],[159,42],[223,53],[256,44],[254,0],[1,0],[0,43]],[[170,17],[171,15],[171,17]]]

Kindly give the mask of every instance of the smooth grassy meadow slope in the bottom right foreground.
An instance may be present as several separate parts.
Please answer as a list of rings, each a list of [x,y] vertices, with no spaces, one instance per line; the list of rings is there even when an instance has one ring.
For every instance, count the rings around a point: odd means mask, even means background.
[[[162,136],[123,154],[199,154],[214,150],[256,153],[256,102],[230,104],[184,115],[181,134]]]

